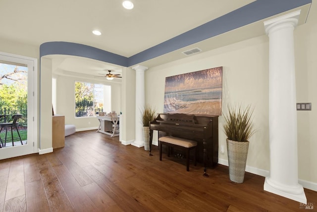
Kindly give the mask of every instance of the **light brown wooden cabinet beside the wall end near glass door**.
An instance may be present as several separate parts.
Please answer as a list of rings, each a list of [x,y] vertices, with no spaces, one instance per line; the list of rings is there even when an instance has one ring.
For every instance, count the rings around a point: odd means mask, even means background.
[[[52,116],[52,146],[53,149],[65,146],[65,116]]]

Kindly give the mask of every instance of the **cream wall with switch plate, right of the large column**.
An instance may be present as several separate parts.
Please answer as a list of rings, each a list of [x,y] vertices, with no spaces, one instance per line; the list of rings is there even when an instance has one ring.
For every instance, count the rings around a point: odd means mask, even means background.
[[[306,24],[294,33],[297,103],[312,103],[311,111],[297,111],[299,178],[315,182],[317,190],[317,4]],[[305,182],[303,182],[305,183]],[[302,184],[303,184],[302,183]],[[304,186],[305,187],[305,186]]]

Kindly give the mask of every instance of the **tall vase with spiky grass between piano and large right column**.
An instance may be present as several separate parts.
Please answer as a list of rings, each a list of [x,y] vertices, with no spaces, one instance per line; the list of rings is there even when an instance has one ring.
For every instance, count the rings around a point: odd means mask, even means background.
[[[255,133],[251,106],[227,106],[224,133],[227,136],[227,153],[230,180],[243,183],[249,150],[249,139]]]

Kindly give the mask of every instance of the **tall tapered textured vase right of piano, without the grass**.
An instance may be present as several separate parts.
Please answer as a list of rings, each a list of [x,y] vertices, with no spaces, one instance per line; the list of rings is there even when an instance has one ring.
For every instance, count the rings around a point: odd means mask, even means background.
[[[227,139],[229,177],[231,181],[243,183],[248,150],[249,141],[240,142]]]

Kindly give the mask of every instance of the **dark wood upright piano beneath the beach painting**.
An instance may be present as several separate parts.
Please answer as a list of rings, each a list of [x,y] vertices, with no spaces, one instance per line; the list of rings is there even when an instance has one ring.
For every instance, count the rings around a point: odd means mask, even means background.
[[[218,116],[159,113],[150,122],[150,155],[153,130],[159,131],[159,138],[170,135],[197,141],[198,162],[204,164],[204,176],[208,176],[207,166],[213,167],[218,163]]]

